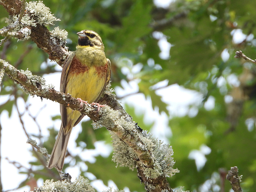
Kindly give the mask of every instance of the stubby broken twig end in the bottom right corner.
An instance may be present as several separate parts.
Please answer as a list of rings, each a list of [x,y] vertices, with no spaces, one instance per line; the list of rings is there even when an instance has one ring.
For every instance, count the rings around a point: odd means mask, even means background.
[[[231,169],[228,171],[227,179],[230,181],[230,184],[234,192],[243,191],[242,188],[240,187],[241,178],[242,178],[242,175],[238,176],[237,166],[231,167]]]

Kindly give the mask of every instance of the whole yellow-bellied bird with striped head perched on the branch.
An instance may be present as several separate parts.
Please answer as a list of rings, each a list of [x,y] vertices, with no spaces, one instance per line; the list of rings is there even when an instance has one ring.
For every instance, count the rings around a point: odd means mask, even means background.
[[[100,36],[91,30],[77,33],[78,45],[64,63],[60,78],[60,92],[69,93],[88,103],[97,102],[110,81],[111,63],[104,53],[104,45]],[[61,126],[54,144],[48,168],[62,170],[68,139],[72,128],[84,117],[60,105]]]

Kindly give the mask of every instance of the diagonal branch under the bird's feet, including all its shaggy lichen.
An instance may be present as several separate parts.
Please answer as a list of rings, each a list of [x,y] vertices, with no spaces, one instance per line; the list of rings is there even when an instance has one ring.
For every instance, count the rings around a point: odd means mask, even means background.
[[[172,192],[166,180],[166,176],[172,176],[178,172],[177,169],[172,168],[174,165],[171,157],[172,148],[134,124],[132,117],[124,111],[114,94],[105,93],[103,95],[100,103],[108,104],[108,106],[102,107],[98,112],[97,105],[80,103],[71,95],[54,90],[51,85],[46,85],[43,78],[32,75],[30,71],[17,70],[2,59],[0,59],[0,69],[3,69],[9,77],[19,83],[25,93],[50,99],[65,107],[80,111],[95,121],[96,126],[106,127],[112,132],[114,161],[117,164],[137,168],[138,177],[145,184],[147,191],[167,190]]]

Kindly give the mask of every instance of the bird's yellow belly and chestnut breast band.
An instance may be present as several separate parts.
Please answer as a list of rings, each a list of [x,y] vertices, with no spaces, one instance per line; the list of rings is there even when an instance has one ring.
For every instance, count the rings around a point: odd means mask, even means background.
[[[107,63],[88,67],[83,65],[75,56],[68,70],[65,93],[88,103],[96,102],[106,83],[107,67]],[[74,127],[74,123],[80,115],[79,111],[67,108],[67,120],[70,127]]]

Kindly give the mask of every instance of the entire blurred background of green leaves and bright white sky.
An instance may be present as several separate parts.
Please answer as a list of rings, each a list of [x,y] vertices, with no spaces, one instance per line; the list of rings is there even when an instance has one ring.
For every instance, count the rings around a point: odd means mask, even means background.
[[[135,122],[170,143],[170,186],[194,192],[230,191],[226,172],[238,166],[244,191],[256,188],[256,68],[254,0],[44,0],[76,48],[77,32],[102,37],[112,63],[112,88]],[[8,13],[0,6],[0,28]],[[2,37],[3,38],[3,37]],[[46,78],[59,90],[62,68],[31,40],[8,40],[0,57],[18,69]],[[68,145],[64,172],[90,179],[98,191],[114,186],[144,191],[132,171],[112,162],[111,137],[93,130],[87,117]],[[44,157],[26,144],[35,139],[50,153],[60,127],[58,103],[26,95],[5,76],[0,87],[2,190],[33,190],[58,179]]]

